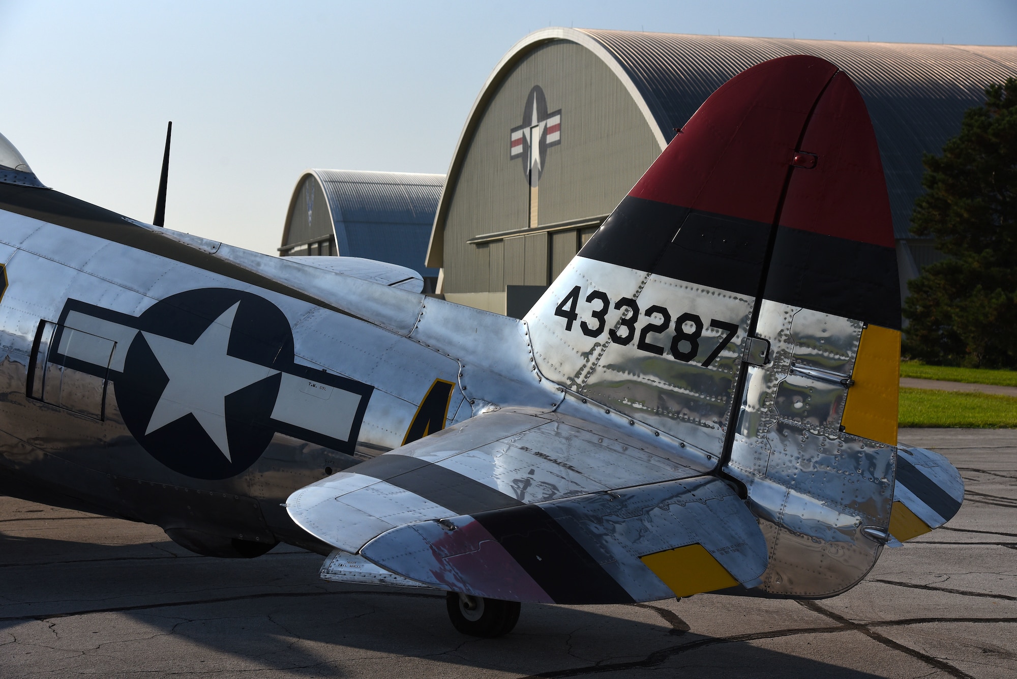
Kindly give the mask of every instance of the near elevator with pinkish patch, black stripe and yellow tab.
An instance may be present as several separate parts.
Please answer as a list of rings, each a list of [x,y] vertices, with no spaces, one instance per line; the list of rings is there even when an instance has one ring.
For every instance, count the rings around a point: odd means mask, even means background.
[[[375,563],[433,587],[548,604],[621,604],[754,587],[766,541],[715,477],[404,526]]]

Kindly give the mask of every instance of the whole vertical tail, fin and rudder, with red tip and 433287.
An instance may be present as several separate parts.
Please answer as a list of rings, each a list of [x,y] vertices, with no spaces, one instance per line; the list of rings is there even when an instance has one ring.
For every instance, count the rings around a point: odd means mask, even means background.
[[[900,296],[876,135],[836,66],[784,57],[721,86],[526,320],[544,376],[744,485],[765,590],[830,596],[875,563]]]

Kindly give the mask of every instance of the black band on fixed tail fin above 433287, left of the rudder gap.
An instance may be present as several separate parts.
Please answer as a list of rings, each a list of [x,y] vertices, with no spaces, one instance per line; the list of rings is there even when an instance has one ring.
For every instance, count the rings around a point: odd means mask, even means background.
[[[580,255],[755,296],[770,226],[627,196]]]

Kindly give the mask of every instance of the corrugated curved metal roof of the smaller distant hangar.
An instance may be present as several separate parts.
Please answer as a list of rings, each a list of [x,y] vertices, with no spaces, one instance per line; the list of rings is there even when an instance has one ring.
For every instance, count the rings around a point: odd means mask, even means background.
[[[444,175],[406,172],[309,170],[324,190],[341,255],[408,266],[424,266],[427,239]]]

